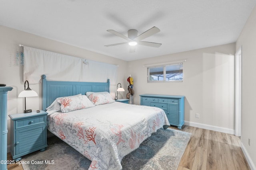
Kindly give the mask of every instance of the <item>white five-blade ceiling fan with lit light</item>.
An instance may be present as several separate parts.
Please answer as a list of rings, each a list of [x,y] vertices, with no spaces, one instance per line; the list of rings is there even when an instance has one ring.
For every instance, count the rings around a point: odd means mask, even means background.
[[[145,31],[144,33],[142,33],[140,35],[138,35],[138,31],[136,29],[129,29],[127,37],[125,35],[122,35],[121,33],[118,33],[117,31],[115,31],[113,29],[108,29],[107,31],[110,33],[113,33],[114,35],[117,35],[118,37],[121,37],[121,38],[127,40],[127,42],[104,45],[105,47],[129,44],[130,45],[130,53],[132,53],[132,52],[135,52],[135,45],[137,45],[137,44],[138,45],[146,45],[146,46],[150,46],[150,47],[160,47],[162,45],[160,43],[141,41],[142,39],[145,39],[155,33],[160,32],[160,29],[158,29],[157,27],[152,27],[152,28],[148,29],[148,31]]]

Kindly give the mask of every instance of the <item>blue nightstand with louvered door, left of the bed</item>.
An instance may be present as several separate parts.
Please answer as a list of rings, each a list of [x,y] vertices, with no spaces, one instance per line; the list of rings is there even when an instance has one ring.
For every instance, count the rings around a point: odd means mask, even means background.
[[[44,151],[47,147],[46,115],[40,110],[30,113],[11,114],[11,155],[14,160],[36,150]]]

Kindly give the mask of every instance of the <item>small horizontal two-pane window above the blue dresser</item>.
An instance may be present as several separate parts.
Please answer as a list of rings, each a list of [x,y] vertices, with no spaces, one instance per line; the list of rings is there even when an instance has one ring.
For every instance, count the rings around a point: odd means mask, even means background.
[[[148,67],[148,82],[182,82],[183,63]]]

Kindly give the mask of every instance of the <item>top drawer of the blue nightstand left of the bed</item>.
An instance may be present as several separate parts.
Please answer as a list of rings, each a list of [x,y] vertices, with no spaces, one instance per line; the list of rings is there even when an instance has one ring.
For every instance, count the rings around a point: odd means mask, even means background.
[[[22,127],[28,127],[40,123],[45,123],[45,116],[38,116],[38,117],[32,117],[28,119],[22,119],[16,121],[16,129],[22,128]]]

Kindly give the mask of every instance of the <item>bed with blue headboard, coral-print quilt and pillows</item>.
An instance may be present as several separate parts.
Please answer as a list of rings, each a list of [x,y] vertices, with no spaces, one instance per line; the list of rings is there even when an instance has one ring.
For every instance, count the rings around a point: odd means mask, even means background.
[[[42,75],[47,129],[91,160],[89,170],[121,170],[124,156],[158,129],[170,126],[162,109],[115,102],[109,92],[110,80],[60,82]],[[72,107],[63,107],[65,101],[72,101]]]

